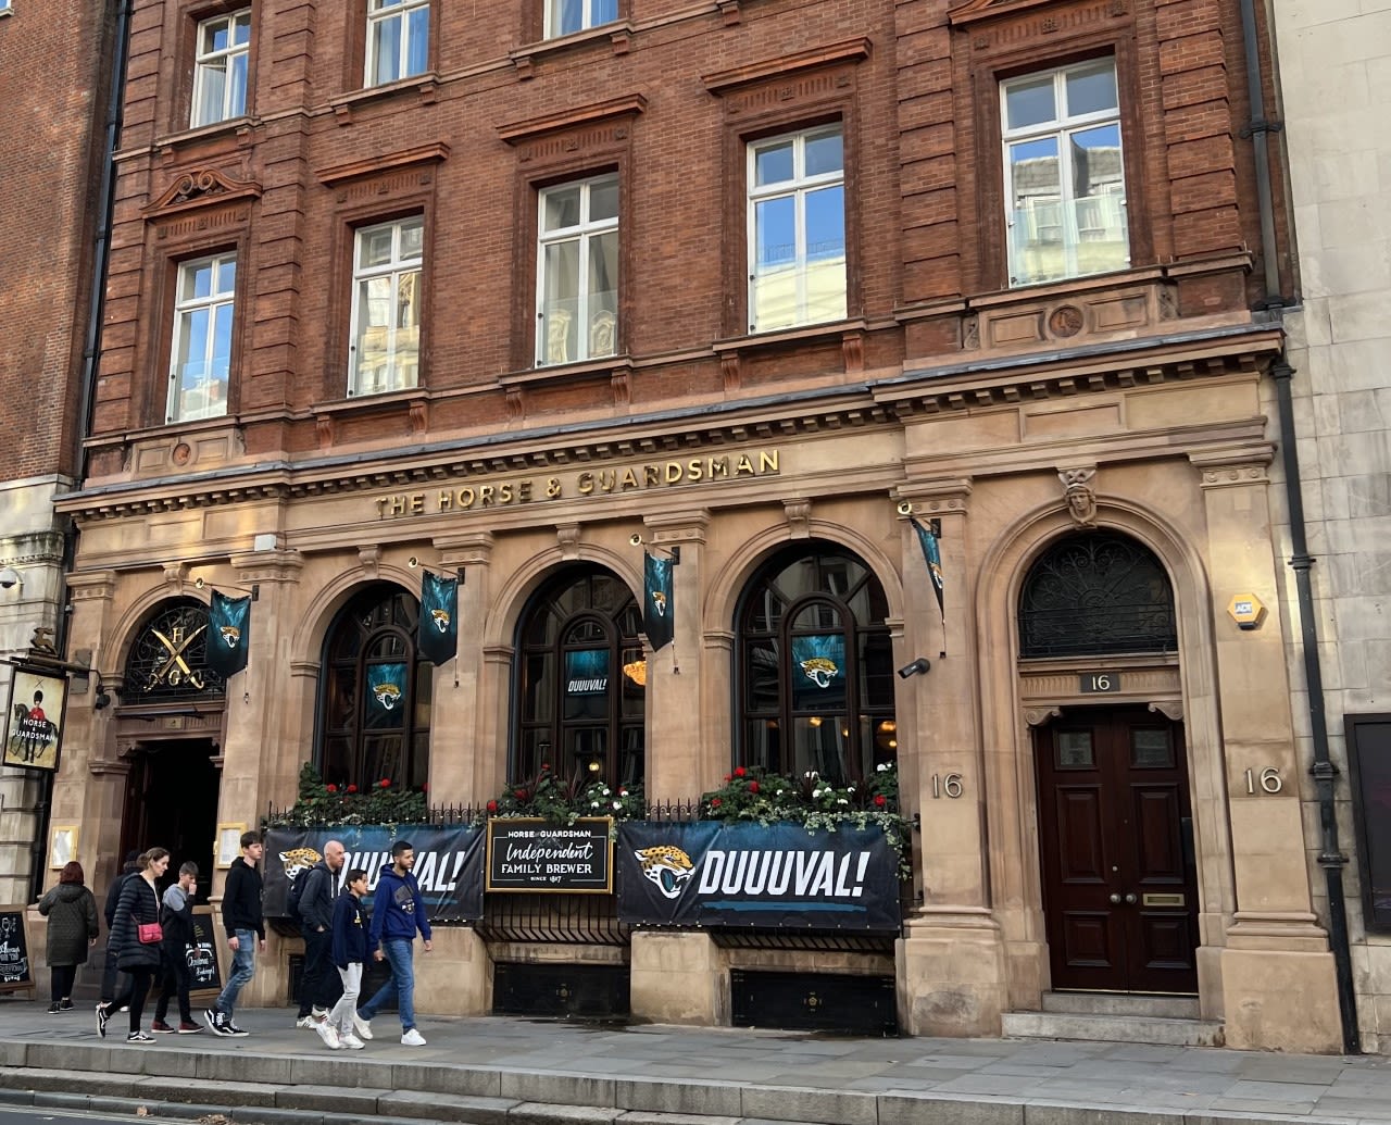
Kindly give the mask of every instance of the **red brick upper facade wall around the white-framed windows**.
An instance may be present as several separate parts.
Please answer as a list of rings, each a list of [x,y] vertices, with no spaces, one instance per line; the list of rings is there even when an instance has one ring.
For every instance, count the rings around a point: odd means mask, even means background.
[[[200,131],[196,19],[236,6],[135,7],[99,478],[164,423],[177,263],[227,249],[228,419],[250,458],[968,359],[999,342],[975,320],[1007,284],[999,82],[1089,56],[1117,61],[1132,267],[1166,316],[1257,296],[1232,3],[664,6],[556,42],[534,13],[437,6],[430,70],[366,90],[360,6],[257,3],[248,115]],[[846,138],[849,320],[750,338],[744,145],[828,120]],[[537,192],[602,170],[620,179],[618,359],[533,370]],[[426,218],[420,388],[349,400],[352,232],[405,213]]]

